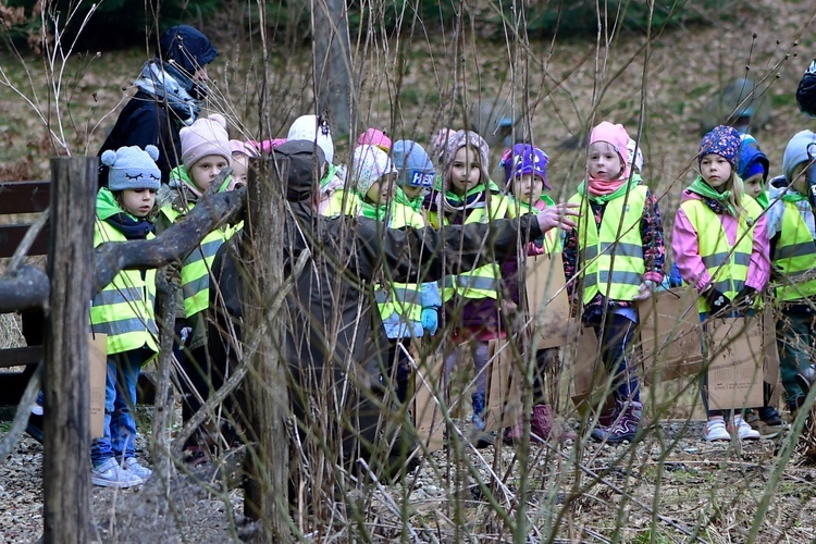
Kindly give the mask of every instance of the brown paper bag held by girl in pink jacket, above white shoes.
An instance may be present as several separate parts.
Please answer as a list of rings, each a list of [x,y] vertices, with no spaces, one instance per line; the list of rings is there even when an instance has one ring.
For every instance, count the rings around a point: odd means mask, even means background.
[[[763,406],[762,317],[708,320],[705,342],[709,409]]]

